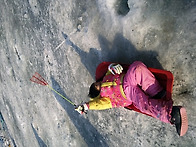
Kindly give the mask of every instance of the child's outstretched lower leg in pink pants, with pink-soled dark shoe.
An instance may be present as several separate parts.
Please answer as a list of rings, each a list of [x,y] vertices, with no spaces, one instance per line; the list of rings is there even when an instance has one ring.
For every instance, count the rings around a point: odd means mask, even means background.
[[[150,99],[138,86],[127,88],[125,94],[143,114],[150,115],[165,123],[174,124],[180,136],[187,132],[186,110],[183,107],[173,106],[172,99]]]

